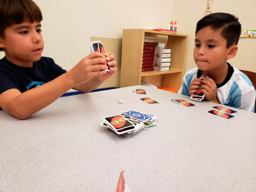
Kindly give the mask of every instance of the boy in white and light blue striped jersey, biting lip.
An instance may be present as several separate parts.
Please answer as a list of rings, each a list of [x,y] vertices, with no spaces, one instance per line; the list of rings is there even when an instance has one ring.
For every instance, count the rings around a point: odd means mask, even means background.
[[[202,89],[208,101],[254,112],[252,82],[227,63],[236,56],[240,34],[241,24],[234,15],[212,13],[199,20],[194,48],[197,68],[185,74],[178,93],[190,96]]]

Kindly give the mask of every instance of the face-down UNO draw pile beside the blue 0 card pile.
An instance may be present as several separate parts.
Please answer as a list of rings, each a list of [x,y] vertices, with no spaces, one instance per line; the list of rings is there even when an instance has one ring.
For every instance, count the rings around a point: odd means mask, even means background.
[[[122,115],[114,115],[103,118],[103,123],[101,126],[107,127],[116,134],[126,137],[132,136],[144,128],[144,124],[142,122],[128,119]]]

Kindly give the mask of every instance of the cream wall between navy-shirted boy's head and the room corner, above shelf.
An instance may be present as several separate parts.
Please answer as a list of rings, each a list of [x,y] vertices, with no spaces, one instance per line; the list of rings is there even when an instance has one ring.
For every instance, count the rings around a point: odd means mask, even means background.
[[[123,29],[167,28],[173,3],[173,0],[34,1],[43,13],[42,56],[53,58],[66,70],[91,52],[92,36],[122,38]],[[0,58],[3,56],[1,52]]]

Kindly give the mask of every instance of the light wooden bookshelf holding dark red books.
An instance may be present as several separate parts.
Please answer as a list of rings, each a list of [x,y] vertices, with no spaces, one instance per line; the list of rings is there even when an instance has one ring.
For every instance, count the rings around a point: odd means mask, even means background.
[[[141,72],[144,36],[165,36],[165,48],[171,49],[170,71]],[[120,87],[140,85],[142,77],[161,75],[161,86],[179,90],[182,84],[187,42],[188,35],[146,29],[123,29]]]

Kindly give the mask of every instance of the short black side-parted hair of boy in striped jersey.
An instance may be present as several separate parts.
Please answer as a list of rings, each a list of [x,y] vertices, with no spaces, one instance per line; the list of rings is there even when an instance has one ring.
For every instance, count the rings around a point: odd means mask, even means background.
[[[241,24],[238,17],[229,13],[212,13],[200,19],[196,25],[196,34],[204,27],[210,26],[213,30],[221,29],[221,35],[227,40],[227,48],[238,44],[241,34]]]

